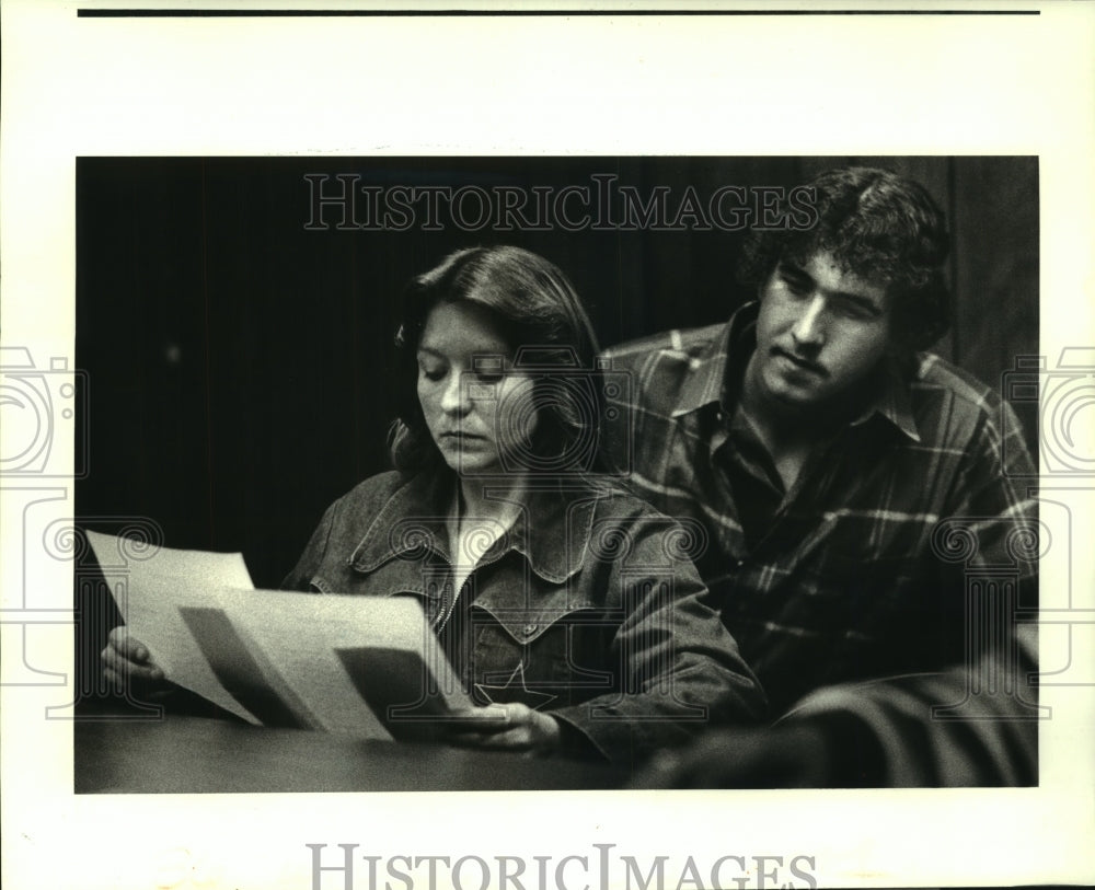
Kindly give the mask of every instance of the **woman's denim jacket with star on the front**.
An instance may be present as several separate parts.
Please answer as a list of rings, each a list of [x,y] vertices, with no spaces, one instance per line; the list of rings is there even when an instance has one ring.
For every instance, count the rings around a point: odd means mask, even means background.
[[[447,474],[366,479],[327,509],[284,587],[418,598],[473,700],[551,713],[564,737],[614,761],[762,716],[692,565],[699,527],[620,489],[553,483],[526,493],[453,591],[454,486]]]

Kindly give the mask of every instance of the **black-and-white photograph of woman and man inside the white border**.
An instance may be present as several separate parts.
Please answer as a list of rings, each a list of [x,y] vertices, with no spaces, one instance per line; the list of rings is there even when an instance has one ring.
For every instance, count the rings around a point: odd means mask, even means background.
[[[134,719],[78,725],[77,790],[1036,785],[1037,198],[1033,158],[79,159],[78,518],[136,543],[78,562],[80,708]],[[281,638],[147,590],[161,546],[300,591],[235,606]],[[307,593],[431,633],[385,669],[346,613],[313,667]]]

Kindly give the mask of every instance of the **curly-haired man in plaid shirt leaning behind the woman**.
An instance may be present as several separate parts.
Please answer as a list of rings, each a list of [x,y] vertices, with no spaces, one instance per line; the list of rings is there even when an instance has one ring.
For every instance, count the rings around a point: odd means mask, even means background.
[[[881,170],[812,189],[816,224],[746,246],[757,302],[608,354],[632,380],[618,462],[703,530],[724,622],[774,712],[799,703],[779,731],[710,739],[669,781],[1035,782],[1036,708],[1014,685],[1033,650],[1013,627],[1036,605],[1037,547],[1015,546],[1037,531],[1033,469],[1010,407],[921,351],[949,324],[943,213]],[[993,567],[1006,582],[967,597]],[[913,672],[933,675],[834,685]],[[1003,674],[1007,694],[987,694]]]

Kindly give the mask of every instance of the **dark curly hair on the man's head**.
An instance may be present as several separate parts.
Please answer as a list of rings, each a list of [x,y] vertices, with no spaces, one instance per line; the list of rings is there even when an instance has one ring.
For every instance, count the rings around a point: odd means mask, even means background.
[[[946,218],[919,183],[887,170],[832,170],[807,186],[816,223],[807,229],[753,230],[738,279],[759,288],[782,259],[803,263],[830,253],[841,269],[886,286],[896,345],[926,349],[950,327],[944,263]]]

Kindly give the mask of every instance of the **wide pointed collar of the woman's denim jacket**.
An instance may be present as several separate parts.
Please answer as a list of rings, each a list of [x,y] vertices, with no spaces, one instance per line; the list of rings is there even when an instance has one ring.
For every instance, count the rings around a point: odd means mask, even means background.
[[[484,479],[491,489],[491,481]],[[364,574],[401,557],[419,559],[433,552],[452,565],[448,520],[457,493],[450,472],[412,476],[388,499],[349,557]],[[499,493],[504,489],[498,485]],[[585,558],[598,492],[589,484],[542,483],[533,479],[521,497],[514,524],[492,544],[481,563],[492,563],[517,551],[537,575],[562,583]]]

